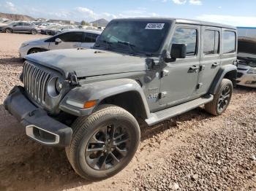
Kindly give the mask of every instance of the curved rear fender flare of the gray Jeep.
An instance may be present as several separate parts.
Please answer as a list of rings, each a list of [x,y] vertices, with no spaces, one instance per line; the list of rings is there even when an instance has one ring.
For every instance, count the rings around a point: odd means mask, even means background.
[[[237,67],[235,65],[229,64],[229,65],[222,66],[219,69],[216,77],[214,78],[214,81],[211,83],[211,87],[209,89],[209,93],[210,94],[214,95],[215,93],[217,93],[217,89],[218,89],[220,83],[222,82],[222,79],[230,71],[235,71],[235,74],[233,76],[231,76],[231,77],[232,77],[232,79],[236,79]]]

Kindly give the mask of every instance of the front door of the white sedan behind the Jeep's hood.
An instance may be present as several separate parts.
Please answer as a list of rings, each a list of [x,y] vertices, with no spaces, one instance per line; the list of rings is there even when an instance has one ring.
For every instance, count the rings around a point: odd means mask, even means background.
[[[83,32],[67,32],[56,35],[56,38],[61,39],[61,42],[59,44],[56,44],[55,41],[50,42],[49,50],[78,48],[83,40]]]

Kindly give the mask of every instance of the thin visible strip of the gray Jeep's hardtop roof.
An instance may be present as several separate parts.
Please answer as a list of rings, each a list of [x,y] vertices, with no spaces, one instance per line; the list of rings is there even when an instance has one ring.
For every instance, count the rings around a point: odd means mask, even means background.
[[[134,18],[119,18],[114,20],[141,20],[141,21],[162,21],[162,22],[171,22],[171,23],[181,23],[181,24],[190,24],[190,25],[200,25],[200,26],[214,26],[220,28],[230,28],[236,30],[236,26],[229,26],[221,23],[211,23],[201,20],[190,20],[190,19],[181,19],[181,18],[167,18],[167,17],[134,17]]]

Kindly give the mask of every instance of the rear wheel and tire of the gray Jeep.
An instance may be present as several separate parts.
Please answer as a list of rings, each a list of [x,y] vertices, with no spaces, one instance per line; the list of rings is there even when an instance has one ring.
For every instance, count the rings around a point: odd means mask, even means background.
[[[227,109],[233,93],[233,83],[230,79],[222,79],[214,100],[205,105],[206,112],[213,115],[220,115]]]

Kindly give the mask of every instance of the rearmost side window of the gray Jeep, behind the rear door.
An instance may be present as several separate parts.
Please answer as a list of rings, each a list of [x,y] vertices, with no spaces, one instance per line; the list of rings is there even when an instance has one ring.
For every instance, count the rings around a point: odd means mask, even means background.
[[[222,53],[236,52],[236,34],[233,31],[224,31],[222,34]]]

